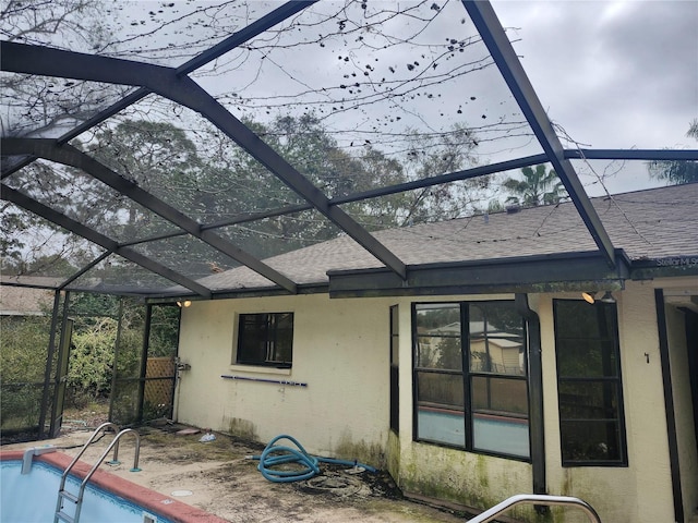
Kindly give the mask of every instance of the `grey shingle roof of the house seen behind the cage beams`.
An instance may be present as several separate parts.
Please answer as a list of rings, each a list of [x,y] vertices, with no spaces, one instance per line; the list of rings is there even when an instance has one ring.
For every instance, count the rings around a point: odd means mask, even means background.
[[[631,260],[698,255],[698,183],[592,198],[614,247]],[[405,264],[472,262],[595,251],[571,203],[378,231]],[[382,264],[348,236],[265,260],[299,284],[326,283],[328,270]],[[246,267],[200,280],[210,289],[273,284]]]

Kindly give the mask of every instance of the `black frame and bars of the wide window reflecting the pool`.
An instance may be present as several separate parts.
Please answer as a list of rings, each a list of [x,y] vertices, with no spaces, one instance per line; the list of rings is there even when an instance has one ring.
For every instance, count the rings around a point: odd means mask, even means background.
[[[521,316],[521,343],[524,345],[524,373],[521,375],[507,375],[500,374],[495,372],[488,370],[471,370],[470,367],[470,357],[471,357],[471,332],[470,332],[470,307],[471,306],[482,306],[482,305],[492,305],[492,304],[512,304],[514,305],[514,300],[486,300],[486,301],[453,301],[453,302],[413,302],[412,303],[412,439],[414,441],[424,442],[429,445],[436,445],[441,447],[454,448],[458,450],[464,450],[467,452],[473,452],[478,454],[485,455],[495,455],[498,458],[505,458],[516,461],[522,461],[530,463],[531,462],[531,440],[530,440],[530,377],[528,372],[528,325],[526,319]],[[419,354],[419,341],[420,337],[423,338],[423,335],[418,332],[418,311],[420,306],[429,307],[430,305],[434,305],[435,308],[437,306],[447,306],[452,305],[458,307],[459,313],[459,321],[460,321],[460,332],[458,338],[460,339],[460,349],[461,349],[461,368],[459,370],[456,369],[447,369],[447,368],[430,368],[430,367],[420,367],[418,366],[418,354]],[[520,316],[520,315],[519,315]],[[485,330],[486,333],[486,330]],[[444,338],[448,338],[445,336]],[[493,338],[497,338],[496,336]],[[465,443],[456,445],[449,443],[441,440],[428,439],[419,436],[419,409],[420,406],[424,406],[425,403],[420,400],[420,391],[419,391],[419,378],[420,375],[432,374],[432,375],[448,375],[448,376],[460,376],[462,380],[462,414],[464,414],[464,430],[465,430]],[[528,430],[528,455],[521,455],[516,453],[507,453],[498,450],[489,450],[478,448],[474,441],[474,414],[477,409],[473,409],[473,393],[472,393],[472,384],[477,378],[484,379],[513,379],[513,380],[522,380],[526,384],[526,410],[527,414],[521,416],[501,416],[501,417],[510,417],[512,419],[526,419],[527,430]],[[426,405],[429,406],[429,405]],[[434,406],[438,408],[440,405],[434,404]],[[446,403],[443,403],[442,406],[447,406]],[[459,405],[450,405],[454,410],[459,409]]]

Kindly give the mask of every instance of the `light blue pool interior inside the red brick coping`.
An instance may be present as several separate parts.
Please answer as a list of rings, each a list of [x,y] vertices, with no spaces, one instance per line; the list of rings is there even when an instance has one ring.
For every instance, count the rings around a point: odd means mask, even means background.
[[[46,463],[35,462],[29,474],[21,474],[20,461],[0,463],[0,521],[3,523],[45,523],[53,521],[61,471]],[[80,482],[69,476],[65,489],[77,494]],[[70,516],[75,503],[64,501],[63,512]],[[91,484],[85,489],[81,523],[170,523],[125,499]]]

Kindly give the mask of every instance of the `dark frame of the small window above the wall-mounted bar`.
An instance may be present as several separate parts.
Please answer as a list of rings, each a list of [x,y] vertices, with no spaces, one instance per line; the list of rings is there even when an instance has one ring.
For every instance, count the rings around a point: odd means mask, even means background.
[[[255,324],[264,325],[260,330],[263,333],[263,342],[265,344],[264,360],[260,357],[249,357],[249,354],[243,354],[243,343],[245,343],[246,328],[245,320],[248,318],[255,318]],[[281,331],[279,327],[280,320],[290,318],[290,360],[274,360],[269,358],[269,351],[274,352],[274,357],[278,357],[278,333]],[[260,321],[262,320],[262,321]],[[294,330],[294,314],[292,312],[274,312],[274,313],[239,313],[237,317],[237,336],[234,342],[234,357],[232,365],[244,365],[250,367],[266,367],[266,368],[279,368],[290,369],[293,365],[293,330]],[[249,341],[249,340],[248,340]],[[244,351],[246,353],[254,352],[249,348]]]

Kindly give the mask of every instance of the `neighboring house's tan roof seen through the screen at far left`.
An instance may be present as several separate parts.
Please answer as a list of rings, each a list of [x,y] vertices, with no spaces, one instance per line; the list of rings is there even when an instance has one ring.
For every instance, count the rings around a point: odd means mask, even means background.
[[[34,284],[37,287],[56,284],[55,278],[3,276],[0,285],[0,315],[35,316],[45,314],[52,306],[53,291],[14,284]]]

